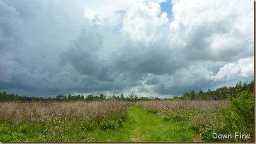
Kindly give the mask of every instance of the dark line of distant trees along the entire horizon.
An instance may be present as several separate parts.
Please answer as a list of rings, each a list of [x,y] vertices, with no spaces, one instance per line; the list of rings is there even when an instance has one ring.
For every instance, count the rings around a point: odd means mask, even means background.
[[[164,100],[226,100],[229,96],[236,98],[237,94],[243,91],[248,91],[249,93],[254,94],[254,80],[252,80],[249,84],[244,83],[242,85],[242,82],[236,84],[235,87],[222,87],[218,88],[214,91],[211,91],[208,89],[207,92],[203,92],[201,89],[198,92],[195,92],[192,90],[191,92],[186,92],[182,96],[174,96],[171,99]],[[103,94],[100,94],[100,96],[83,96],[83,95],[74,95],[72,96],[69,94],[68,96],[65,95],[58,95],[56,97],[27,97],[25,96],[18,96],[17,94],[7,94],[6,91],[0,92],[0,102],[8,102],[8,101],[20,101],[20,102],[33,102],[33,101],[56,101],[56,102],[62,102],[62,101],[102,101],[102,100],[109,100],[109,99],[117,99],[121,101],[131,101],[131,102],[137,102],[137,101],[147,101],[147,100],[162,100],[158,97],[138,97],[137,95],[134,95],[133,93],[129,94],[129,96],[124,97],[123,93],[120,96],[106,96]]]

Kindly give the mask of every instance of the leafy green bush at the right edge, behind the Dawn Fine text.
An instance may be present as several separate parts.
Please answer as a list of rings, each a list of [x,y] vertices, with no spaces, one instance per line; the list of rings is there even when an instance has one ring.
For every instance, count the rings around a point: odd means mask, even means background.
[[[229,95],[229,100],[229,107],[222,108],[216,113],[217,121],[200,130],[202,141],[254,141],[254,95],[243,91],[237,94],[237,98]],[[189,128],[194,129],[196,127],[190,123]],[[242,132],[250,134],[250,139],[213,139],[212,132],[223,134]]]

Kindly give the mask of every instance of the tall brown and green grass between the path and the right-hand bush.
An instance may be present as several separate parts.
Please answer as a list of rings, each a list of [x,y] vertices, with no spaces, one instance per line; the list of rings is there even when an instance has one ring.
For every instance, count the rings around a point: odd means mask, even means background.
[[[148,113],[162,115],[164,121],[176,122],[185,129],[193,130],[194,139],[198,139],[196,141],[200,141],[198,135],[201,141],[214,141],[210,134],[215,129],[223,129],[224,125],[220,119],[223,110],[229,107],[230,101],[151,100],[137,102],[135,105],[142,107]],[[205,140],[205,138],[208,139]]]

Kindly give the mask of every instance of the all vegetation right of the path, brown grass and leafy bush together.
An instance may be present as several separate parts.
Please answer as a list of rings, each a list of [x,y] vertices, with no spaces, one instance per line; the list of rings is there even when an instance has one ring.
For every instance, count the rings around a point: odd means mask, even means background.
[[[203,142],[254,141],[254,94],[237,91],[230,101],[160,101],[137,102],[148,113],[161,115],[164,121],[182,122],[185,129],[200,135]],[[213,138],[212,133],[231,134],[233,138]],[[250,138],[234,138],[235,132],[249,134]]]

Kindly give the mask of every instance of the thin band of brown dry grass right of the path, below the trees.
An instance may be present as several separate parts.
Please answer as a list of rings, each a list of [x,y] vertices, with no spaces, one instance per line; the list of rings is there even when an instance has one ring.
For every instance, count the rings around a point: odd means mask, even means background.
[[[151,101],[141,101],[135,103],[136,106],[146,107],[149,109],[156,109],[161,111],[168,111],[171,109],[175,110],[211,110],[221,107],[227,107],[229,101],[169,101],[169,100],[151,100]]]

